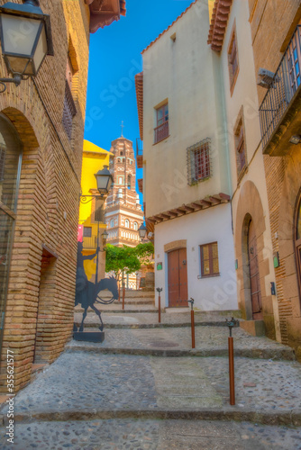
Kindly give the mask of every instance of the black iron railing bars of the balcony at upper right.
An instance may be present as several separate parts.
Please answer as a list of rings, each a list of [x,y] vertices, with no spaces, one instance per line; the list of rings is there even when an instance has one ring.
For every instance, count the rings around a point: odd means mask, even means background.
[[[260,105],[260,127],[263,148],[269,143],[269,139],[277,129],[278,123],[281,121],[284,113],[287,112],[288,105],[301,84],[300,34],[301,25],[298,25],[280,61],[269,90]]]

